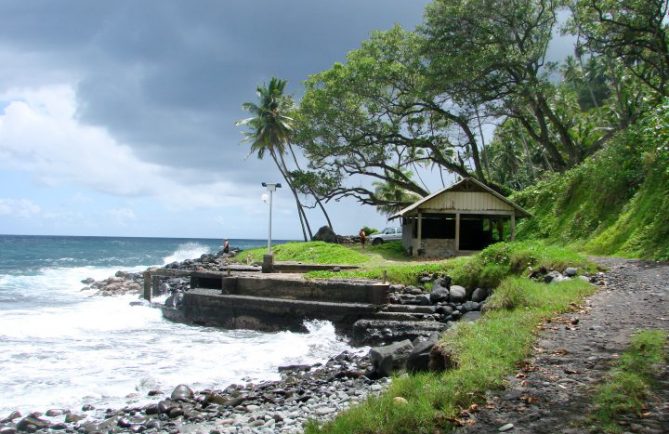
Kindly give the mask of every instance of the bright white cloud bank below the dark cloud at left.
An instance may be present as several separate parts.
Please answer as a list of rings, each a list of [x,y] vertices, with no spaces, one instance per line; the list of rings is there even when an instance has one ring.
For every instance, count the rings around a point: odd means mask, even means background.
[[[0,168],[27,171],[48,186],[74,184],[115,196],[156,197],[172,208],[255,202],[250,192],[228,181],[180,183],[174,169],[142,161],[106,129],[80,123],[71,86],[10,89],[0,101],[5,102]]]

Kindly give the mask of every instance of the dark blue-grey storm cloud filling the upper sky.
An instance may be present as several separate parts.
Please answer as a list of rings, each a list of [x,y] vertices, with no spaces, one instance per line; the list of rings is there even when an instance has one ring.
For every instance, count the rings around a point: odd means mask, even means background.
[[[299,96],[308,74],[344,60],[371,31],[413,28],[426,3],[6,1],[0,51],[29,55],[28,76],[76,77],[80,119],[143,159],[255,182],[269,163],[243,162],[234,126],[255,87],[276,75]]]

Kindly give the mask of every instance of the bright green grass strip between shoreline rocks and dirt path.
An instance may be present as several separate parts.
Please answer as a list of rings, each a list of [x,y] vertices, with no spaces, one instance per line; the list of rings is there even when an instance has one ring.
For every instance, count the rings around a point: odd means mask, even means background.
[[[511,309],[491,309],[481,320],[459,323],[442,337],[440,345],[454,355],[457,368],[441,374],[396,377],[380,397],[368,399],[323,426],[312,422],[306,432],[448,432],[462,408],[484,402],[486,390],[504,385],[504,378],[530,353],[539,324],[594,291],[580,280],[546,285],[508,278],[502,286],[517,287],[525,301]],[[397,396],[408,404],[395,405]]]

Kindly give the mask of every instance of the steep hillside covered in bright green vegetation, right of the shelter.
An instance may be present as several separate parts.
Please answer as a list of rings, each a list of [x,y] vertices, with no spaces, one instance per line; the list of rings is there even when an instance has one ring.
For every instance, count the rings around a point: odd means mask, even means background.
[[[586,252],[669,259],[669,104],[565,174],[518,193],[519,237]]]

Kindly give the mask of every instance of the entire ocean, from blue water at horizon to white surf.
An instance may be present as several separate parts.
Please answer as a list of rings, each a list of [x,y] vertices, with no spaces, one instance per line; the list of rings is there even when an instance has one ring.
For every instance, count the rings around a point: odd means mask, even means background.
[[[264,240],[230,240],[242,249]],[[196,258],[218,239],[0,235],[0,418],[14,410],[106,408],[194,389],[278,379],[277,368],[324,362],[351,348],[327,322],[308,333],[176,324],[137,295],[100,297],[81,280]],[[154,300],[155,301],[155,300]]]

